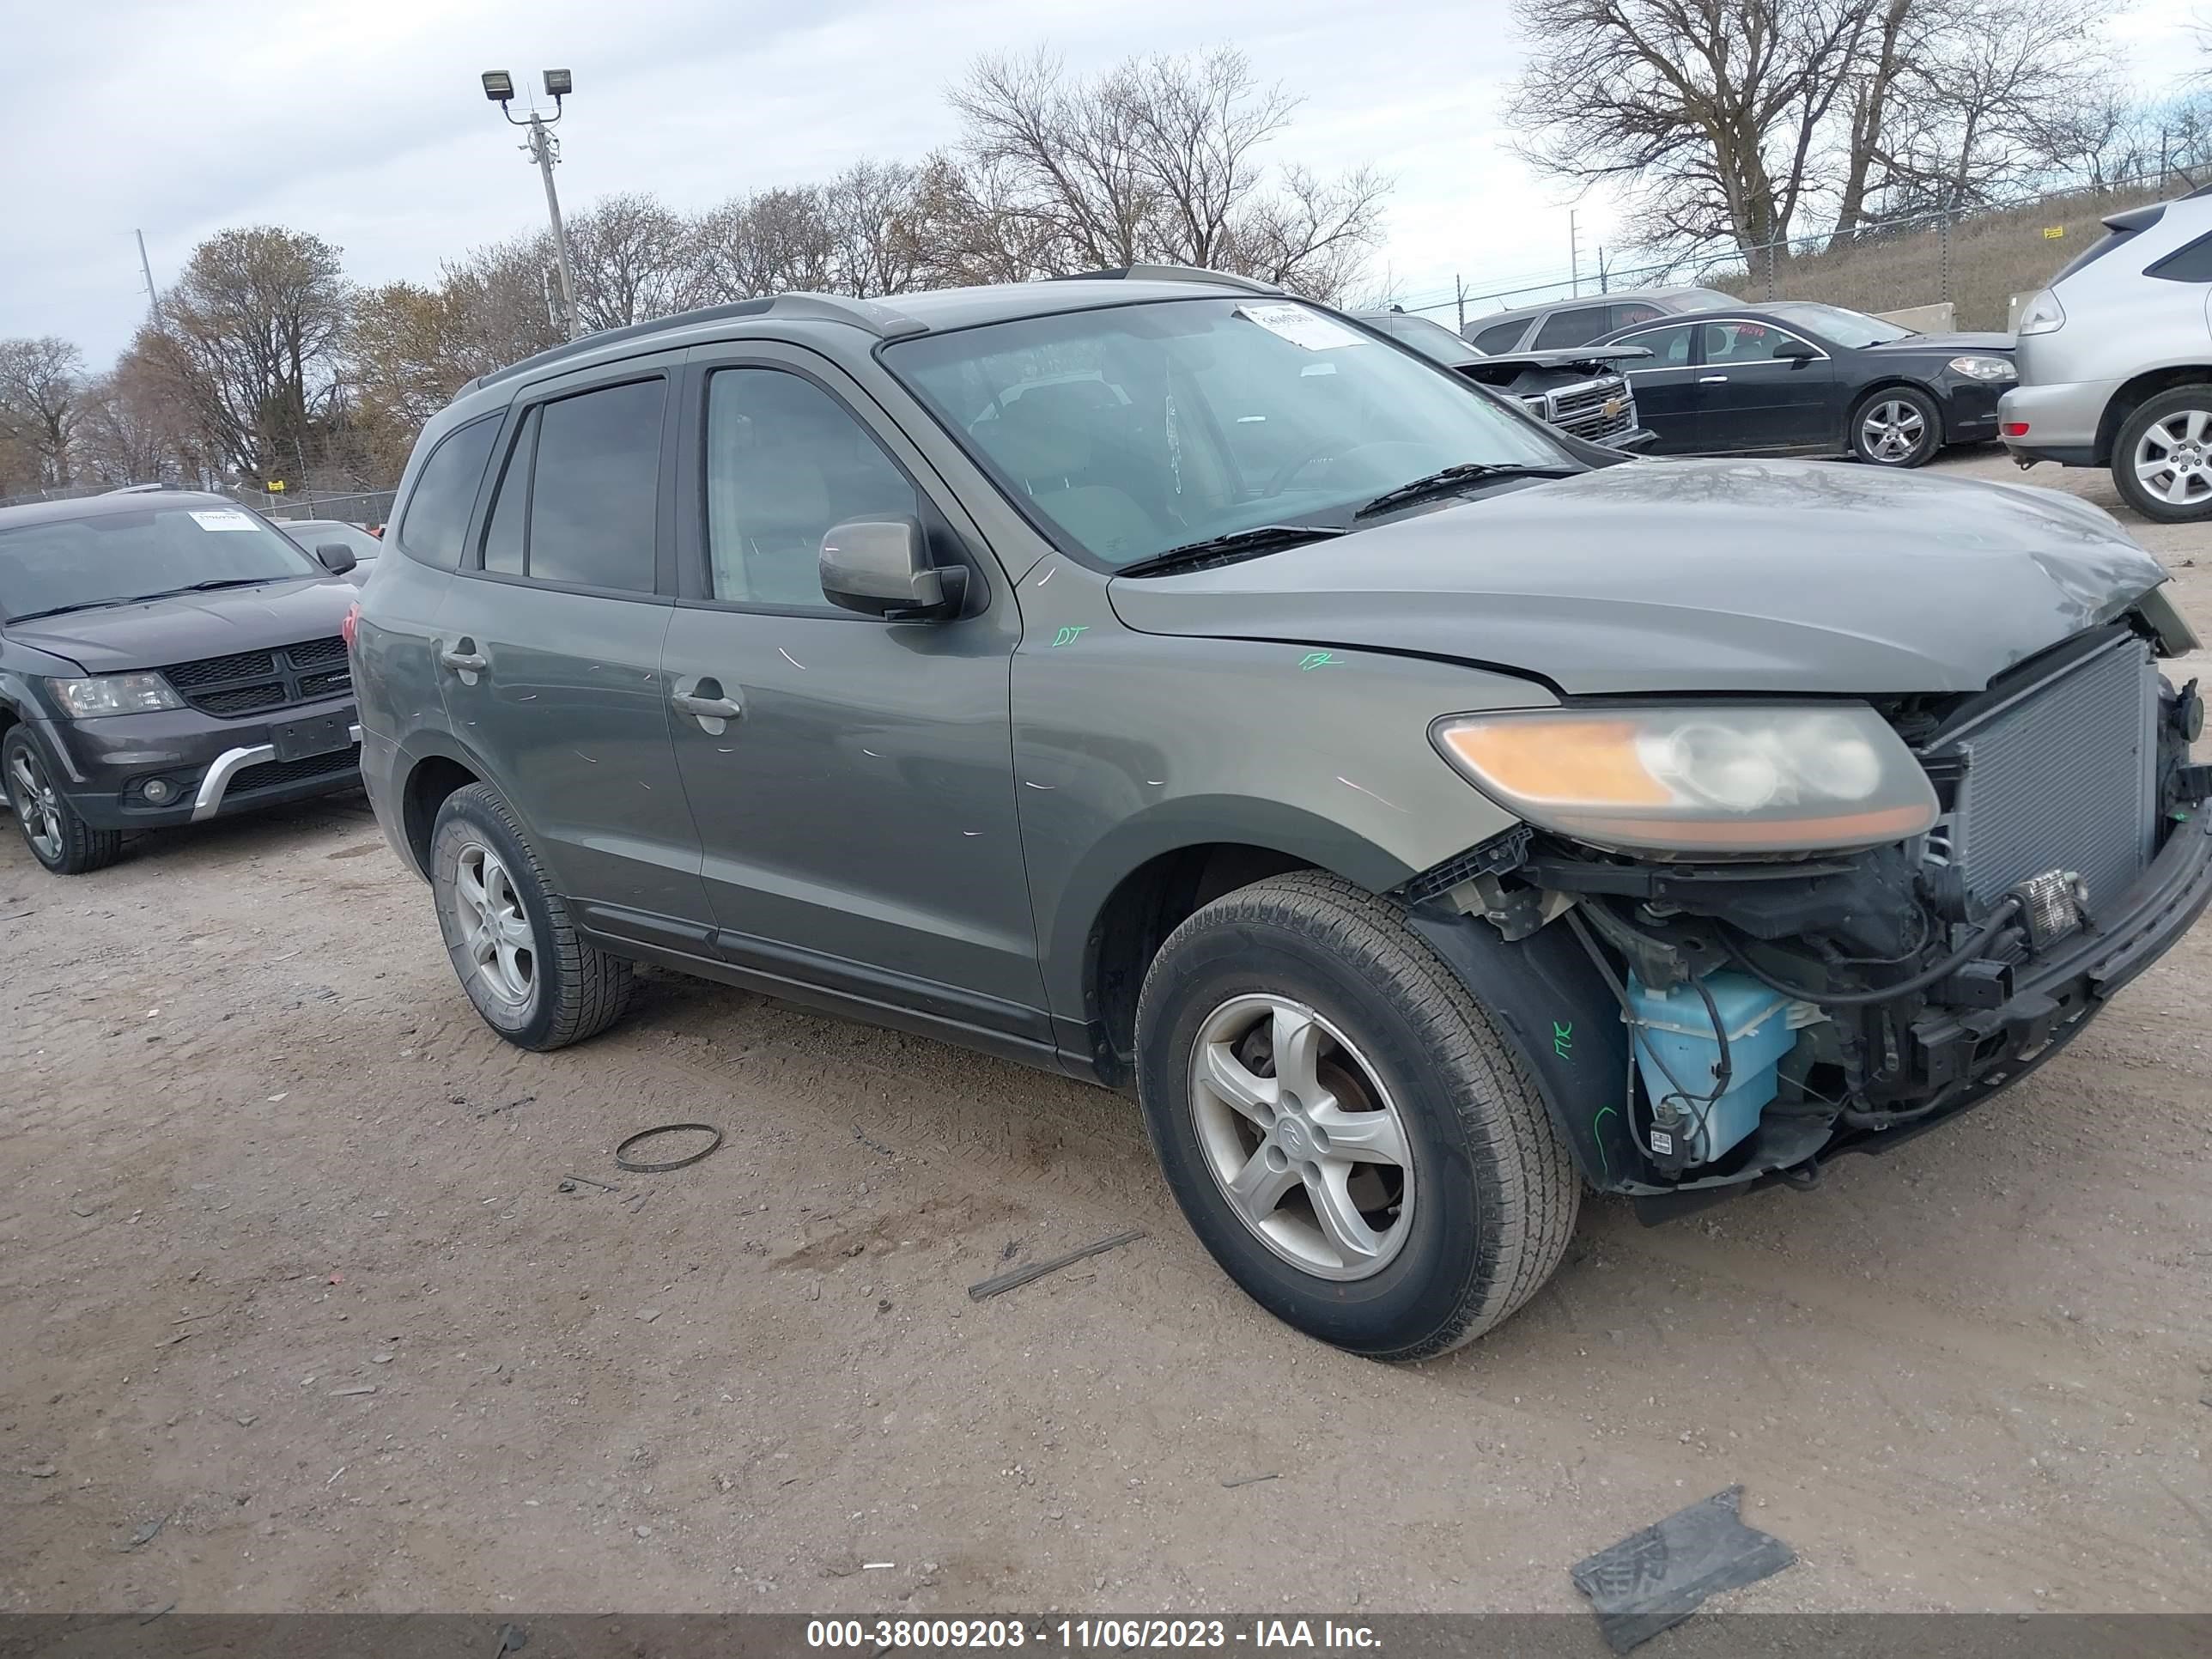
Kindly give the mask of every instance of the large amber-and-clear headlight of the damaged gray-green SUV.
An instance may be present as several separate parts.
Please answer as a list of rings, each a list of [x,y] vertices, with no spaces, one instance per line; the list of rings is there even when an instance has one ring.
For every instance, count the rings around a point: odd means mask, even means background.
[[[1429,732],[1509,812],[1601,847],[1869,847],[1936,823],[1936,790],[1865,706],[1453,714]]]

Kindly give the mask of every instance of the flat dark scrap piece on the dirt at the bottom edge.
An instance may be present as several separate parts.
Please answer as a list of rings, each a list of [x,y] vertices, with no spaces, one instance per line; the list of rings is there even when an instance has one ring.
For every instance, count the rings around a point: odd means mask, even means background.
[[[1613,1652],[1681,1624],[1717,1590],[1756,1584],[1796,1562],[1778,1537],[1743,1524],[1741,1504],[1743,1486],[1730,1486],[1568,1568]]]

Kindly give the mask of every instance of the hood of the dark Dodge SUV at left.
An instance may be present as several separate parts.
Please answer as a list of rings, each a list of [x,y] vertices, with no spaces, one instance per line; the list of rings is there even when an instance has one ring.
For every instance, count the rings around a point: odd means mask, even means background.
[[[257,588],[66,611],[9,624],[7,637],[51,657],[66,657],[88,675],[119,675],[336,635],[345,608],[358,595],[361,588],[345,577],[307,575]]]

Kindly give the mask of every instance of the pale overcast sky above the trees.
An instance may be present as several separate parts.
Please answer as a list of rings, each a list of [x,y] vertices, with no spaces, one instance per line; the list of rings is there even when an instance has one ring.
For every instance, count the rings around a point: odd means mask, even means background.
[[[2115,38],[2146,86],[2197,58],[2205,0],[2137,0]],[[1566,192],[1506,150],[1506,0],[0,0],[0,336],[104,367],[155,281],[223,226],[283,223],[363,283],[531,230],[544,199],[478,73],[566,66],[560,190],[703,208],[951,137],[980,51],[1073,69],[1234,42],[1305,97],[1274,153],[1396,179],[1383,257],[1411,299],[1566,270]],[[1610,230],[1579,208],[1582,241]],[[1380,274],[1380,270],[1378,270]]]

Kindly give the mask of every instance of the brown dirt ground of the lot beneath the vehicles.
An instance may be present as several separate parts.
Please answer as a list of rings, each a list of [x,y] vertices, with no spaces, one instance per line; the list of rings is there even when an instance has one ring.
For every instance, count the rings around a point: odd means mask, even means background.
[[[2212,635],[2212,531],[2137,533]],[[1119,1095],[661,973],[518,1053],[358,801],[82,880],[9,834],[0,1610],[1575,1610],[1736,1482],[1801,1562],[1732,1608],[2208,1610],[2208,967],[1816,1192],[1588,1201],[1385,1369],[1214,1270]],[[670,1119],[728,1144],[613,1168]]]

